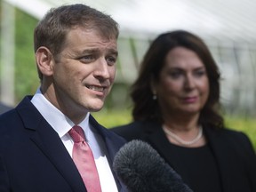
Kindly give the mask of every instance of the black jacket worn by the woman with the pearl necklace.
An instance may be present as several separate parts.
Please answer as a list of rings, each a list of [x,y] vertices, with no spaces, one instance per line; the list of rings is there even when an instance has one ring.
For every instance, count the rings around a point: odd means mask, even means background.
[[[175,170],[161,124],[134,122],[111,130],[127,141],[147,141]],[[256,156],[248,137],[242,132],[205,126],[204,134],[220,168],[223,192],[256,192]]]

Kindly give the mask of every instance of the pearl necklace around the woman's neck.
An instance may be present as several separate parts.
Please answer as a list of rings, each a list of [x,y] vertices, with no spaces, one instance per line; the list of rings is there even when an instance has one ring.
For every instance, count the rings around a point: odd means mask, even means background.
[[[181,145],[185,145],[185,146],[189,146],[192,145],[194,143],[196,143],[198,140],[201,139],[201,137],[203,136],[203,129],[202,126],[199,127],[199,132],[196,135],[196,138],[193,140],[182,140],[177,134],[175,134],[174,132],[171,132],[169,129],[166,128],[166,126],[163,126],[163,130],[164,132],[169,135],[170,137],[172,137],[172,139],[178,141]]]

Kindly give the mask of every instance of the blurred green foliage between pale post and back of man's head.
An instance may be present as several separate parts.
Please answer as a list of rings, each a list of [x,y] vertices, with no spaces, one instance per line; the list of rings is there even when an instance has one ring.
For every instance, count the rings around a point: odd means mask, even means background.
[[[0,0],[0,15],[1,2]],[[15,9],[15,103],[25,95],[36,92],[39,85],[33,44],[34,28],[37,22],[38,20],[27,13]]]

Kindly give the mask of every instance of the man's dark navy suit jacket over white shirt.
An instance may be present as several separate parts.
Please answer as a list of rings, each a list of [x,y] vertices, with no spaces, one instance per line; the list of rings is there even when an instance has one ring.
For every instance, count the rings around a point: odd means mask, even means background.
[[[89,122],[105,141],[108,163],[112,167],[124,139],[100,126],[92,116]],[[115,179],[118,190],[124,191],[122,183]],[[0,116],[0,191],[86,191],[58,133],[44,120],[29,97]]]

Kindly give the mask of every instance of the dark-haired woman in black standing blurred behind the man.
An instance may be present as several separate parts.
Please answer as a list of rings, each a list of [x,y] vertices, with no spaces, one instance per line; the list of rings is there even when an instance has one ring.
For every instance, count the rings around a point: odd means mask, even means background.
[[[256,156],[220,116],[220,72],[201,38],[187,31],[152,42],[132,84],[133,122],[112,129],[145,140],[194,192],[256,192]]]

